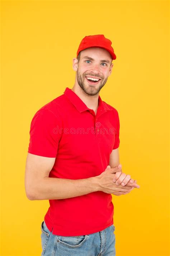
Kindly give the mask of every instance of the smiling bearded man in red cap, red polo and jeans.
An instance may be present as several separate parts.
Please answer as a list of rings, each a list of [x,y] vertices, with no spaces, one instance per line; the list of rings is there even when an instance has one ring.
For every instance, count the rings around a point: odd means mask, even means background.
[[[111,194],[139,187],[119,164],[118,112],[99,96],[116,58],[111,44],[104,35],[85,36],[73,59],[73,88],[31,122],[25,189],[30,200],[49,200],[45,256],[115,255]]]

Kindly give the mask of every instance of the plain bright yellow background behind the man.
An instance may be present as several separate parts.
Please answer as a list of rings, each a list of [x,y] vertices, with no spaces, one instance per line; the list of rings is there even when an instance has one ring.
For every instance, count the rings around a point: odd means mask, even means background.
[[[82,38],[117,59],[101,98],[120,118],[122,171],[141,186],[113,196],[117,256],[169,255],[169,2],[1,1],[1,255],[41,254],[49,202],[25,194],[30,122],[72,88]]]

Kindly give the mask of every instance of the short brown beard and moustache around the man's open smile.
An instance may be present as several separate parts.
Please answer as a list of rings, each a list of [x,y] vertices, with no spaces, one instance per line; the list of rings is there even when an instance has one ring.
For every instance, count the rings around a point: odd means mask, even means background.
[[[88,82],[86,81],[86,78],[84,77],[84,79],[83,79],[83,75],[80,74],[79,69],[77,69],[76,75],[77,75],[77,82],[78,82],[79,86],[88,95],[98,94],[99,91],[101,90],[101,88],[105,85],[105,83],[108,80],[108,77],[105,78],[104,80],[101,78],[98,86],[93,86],[93,85],[90,86],[87,84]]]

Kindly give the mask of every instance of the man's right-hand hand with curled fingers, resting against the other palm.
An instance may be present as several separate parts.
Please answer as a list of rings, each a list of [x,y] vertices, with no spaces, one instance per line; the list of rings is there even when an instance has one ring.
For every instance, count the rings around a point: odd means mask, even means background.
[[[122,186],[125,186],[125,185],[128,185],[128,186],[131,186],[131,187],[134,187],[134,188],[140,188],[139,185],[137,185],[133,179],[131,179],[131,176],[130,175],[126,175],[125,173],[122,173],[122,165],[119,164],[118,166],[118,170],[115,175],[114,175],[114,179],[113,179],[113,182],[116,183],[116,185],[122,185]],[[110,166],[108,165],[107,168],[109,169]]]

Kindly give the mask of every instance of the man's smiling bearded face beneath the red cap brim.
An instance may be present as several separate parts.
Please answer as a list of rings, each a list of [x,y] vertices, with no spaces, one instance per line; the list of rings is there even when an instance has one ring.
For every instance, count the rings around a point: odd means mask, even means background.
[[[81,51],[77,65],[76,78],[79,86],[88,95],[96,95],[108,80],[112,72],[112,57],[103,48],[91,47]],[[97,78],[99,81],[92,81],[88,78]]]

